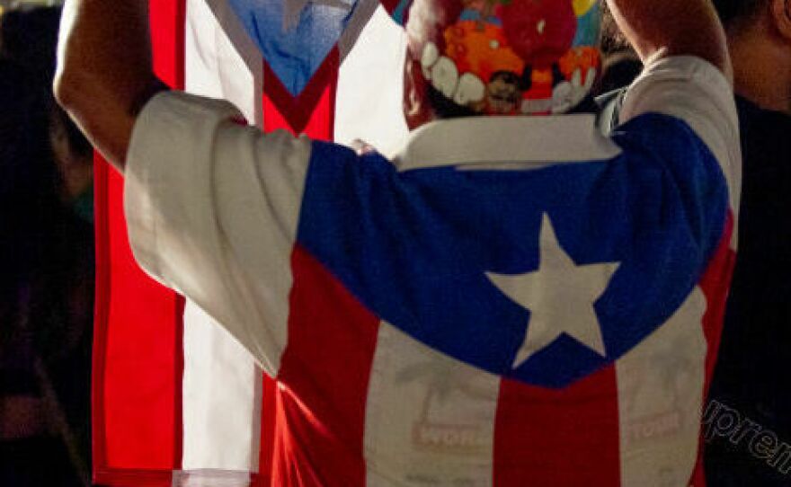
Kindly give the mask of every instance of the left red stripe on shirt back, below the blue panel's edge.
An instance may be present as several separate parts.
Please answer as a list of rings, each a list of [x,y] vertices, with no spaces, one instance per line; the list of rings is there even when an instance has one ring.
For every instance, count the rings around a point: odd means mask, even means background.
[[[272,483],[365,485],[363,430],[378,317],[300,247],[291,269]]]

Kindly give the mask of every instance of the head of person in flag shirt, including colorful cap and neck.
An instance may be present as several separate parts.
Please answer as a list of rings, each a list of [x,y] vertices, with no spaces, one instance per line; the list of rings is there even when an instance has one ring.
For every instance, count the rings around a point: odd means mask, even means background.
[[[598,0],[402,0],[404,114],[567,113],[600,75]]]

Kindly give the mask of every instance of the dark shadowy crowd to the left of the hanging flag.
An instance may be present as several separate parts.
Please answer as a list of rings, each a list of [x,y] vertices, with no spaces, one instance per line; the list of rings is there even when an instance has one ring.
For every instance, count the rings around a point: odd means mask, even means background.
[[[0,485],[90,464],[92,147],[52,96],[60,10],[0,18]]]

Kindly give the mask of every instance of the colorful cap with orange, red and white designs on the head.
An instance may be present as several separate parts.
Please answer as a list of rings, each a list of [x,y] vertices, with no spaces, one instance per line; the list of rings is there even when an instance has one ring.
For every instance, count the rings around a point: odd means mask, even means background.
[[[439,1],[439,0],[438,0]],[[461,13],[422,50],[423,77],[467,110],[572,110],[600,73],[597,0],[461,0]],[[409,1],[394,4],[404,20]]]

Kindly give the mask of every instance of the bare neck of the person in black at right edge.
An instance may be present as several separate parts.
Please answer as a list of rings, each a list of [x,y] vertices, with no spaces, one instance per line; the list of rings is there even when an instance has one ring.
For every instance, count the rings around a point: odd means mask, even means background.
[[[760,108],[791,114],[791,43],[765,27],[729,35],[734,90]]]

